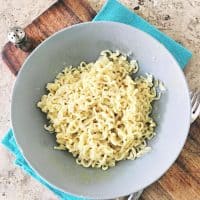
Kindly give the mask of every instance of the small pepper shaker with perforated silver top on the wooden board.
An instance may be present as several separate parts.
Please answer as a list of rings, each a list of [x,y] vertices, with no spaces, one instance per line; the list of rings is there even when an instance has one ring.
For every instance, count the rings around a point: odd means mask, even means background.
[[[20,27],[13,27],[8,32],[8,40],[17,48],[28,52],[32,49],[32,42],[27,37],[25,31]]]

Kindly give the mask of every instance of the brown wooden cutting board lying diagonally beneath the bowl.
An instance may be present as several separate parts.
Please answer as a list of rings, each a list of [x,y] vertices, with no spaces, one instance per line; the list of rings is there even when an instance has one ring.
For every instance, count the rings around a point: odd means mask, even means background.
[[[85,0],[59,0],[25,27],[25,31],[36,47],[54,32],[90,21],[95,15]],[[10,42],[1,53],[3,61],[15,75],[28,55]],[[166,147],[166,151],[168,148],[170,146]],[[200,200],[200,119],[192,124],[185,147],[176,162],[159,181],[145,189],[141,200]]]

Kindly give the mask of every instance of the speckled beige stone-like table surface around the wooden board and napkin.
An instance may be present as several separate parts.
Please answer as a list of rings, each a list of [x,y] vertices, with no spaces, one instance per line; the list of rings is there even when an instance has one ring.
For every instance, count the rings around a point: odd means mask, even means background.
[[[7,30],[14,25],[26,26],[47,9],[54,0],[0,0],[0,48]],[[89,0],[98,11],[104,0]],[[132,10],[137,0],[121,0]],[[143,1],[139,1],[143,2]],[[185,70],[190,89],[200,88],[200,2],[199,0],[144,0],[138,14],[193,52]],[[0,140],[10,126],[10,94],[14,76],[0,61]],[[13,165],[13,156],[0,146],[0,199],[56,200],[54,194]],[[178,199],[178,197],[177,197]],[[180,199],[181,200],[181,199]]]

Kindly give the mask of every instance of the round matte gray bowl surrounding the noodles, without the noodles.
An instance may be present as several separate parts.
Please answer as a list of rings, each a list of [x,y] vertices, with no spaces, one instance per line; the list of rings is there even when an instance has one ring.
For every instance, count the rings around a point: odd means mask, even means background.
[[[149,144],[152,151],[107,171],[83,168],[68,152],[54,150],[55,136],[43,129],[46,118],[36,107],[46,83],[53,81],[64,65],[94,61],[104,49],[133,53],[140,73],[153,74],[167,87],[154,107],[158,127]],[[45,40],[24,63],[12,96],[12,126],[29,164],[57,188],[91,199],[124,196],[156,181],[179,155],[189,124],[188,87],[173,56],[146,33],[114,22],[75,25]]]

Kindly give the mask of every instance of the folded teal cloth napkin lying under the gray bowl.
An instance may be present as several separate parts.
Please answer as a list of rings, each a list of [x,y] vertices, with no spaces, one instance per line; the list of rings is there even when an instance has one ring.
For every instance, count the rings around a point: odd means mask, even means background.
[[[116,0],[108,0],[101,11],[96,15],[93,21],[116,21],[125,23],[131,26],[134,26],[138,29],[147,32],[158,41],[160,41],[176,58],[181,68],[188,63],[192,54],[186,48],[166,36],[164,33],[160,32],[154,26],[146,22],[143,18],[139,17],[128,8],[121,5]],[[13,153],[15,156],[15,164],[20,166],[27,174],[34,177],[40,183],[45,185],[51,191],[53,191],[60,199],[62,200],[79,200],[82,198],[71,196],[67,193],[62,192],[61,190],[55,188],[50,183],[48,183],[45,179],[43,179],[31,166],[26,162],[22,152],[19,150],[13,131],[10,129],[8,133],[4,136],[2,140],[2,144]]]

